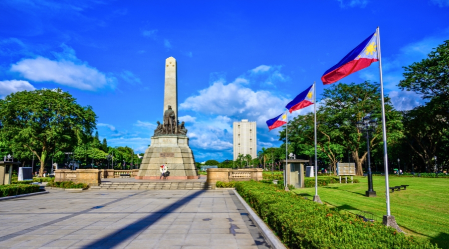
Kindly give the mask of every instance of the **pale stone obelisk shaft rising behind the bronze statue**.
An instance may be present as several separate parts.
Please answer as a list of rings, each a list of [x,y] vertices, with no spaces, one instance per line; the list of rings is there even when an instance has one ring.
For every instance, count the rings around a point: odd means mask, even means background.
[[[164,109],[172,106],[175,112],[175,127],[178,126],[178,81],[176,59],[169,57],[165,60],[165,88],[164,88]]]

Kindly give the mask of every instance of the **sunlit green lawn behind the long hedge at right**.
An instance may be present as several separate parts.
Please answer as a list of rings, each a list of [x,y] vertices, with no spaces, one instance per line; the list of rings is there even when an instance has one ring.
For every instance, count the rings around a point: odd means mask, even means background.
[[[357,214],[368,211],[382,222],[386,214],[385,178],[374,176],[373,187],[378,197],[365,197],[368,178],[354,177],[360,183],[330,184],[318,187],[321,200],[330,207]],[[407,190],[390,193],[391,214],[409,235],[428,239],[449,249],[449,179],[390,177],[390,186],[410,185]],[[315,188],[295,189],[297,194],[312,199]]]

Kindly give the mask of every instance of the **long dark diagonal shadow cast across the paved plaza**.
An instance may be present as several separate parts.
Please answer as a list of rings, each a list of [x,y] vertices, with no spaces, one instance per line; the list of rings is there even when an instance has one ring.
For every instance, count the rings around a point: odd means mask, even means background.
[[[164,207],[160,210],[155,211],[153,214],[148,215],[130,225],[125,227],[122,230],[119,230],[113,234],[110,234],[106,236],[105,238],[95,241],[92,244],[86,245],[83,248],[112,248],[118,244],[120,244],[123,241],[128,240],[131,236],[138,234],[139,232],[149,228],[153,223],[157,222],[160,218],[163,218],[175,210],[177,210],[179,207],[185,205],[192,199],[196,198],[200,194],[204,193],[205,190],[197,191],[191,195],[188,195],[186,197],[183,197],[179,199],[177,202],[173,203],[172,205],[169,205],[167,207]]]

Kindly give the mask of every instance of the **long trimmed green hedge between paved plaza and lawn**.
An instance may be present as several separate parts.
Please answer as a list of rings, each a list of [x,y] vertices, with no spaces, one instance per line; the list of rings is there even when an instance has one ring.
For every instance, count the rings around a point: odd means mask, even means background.
[[[235,188],[290,249],[437,248],[380,222],[367,223],[352,214],[340,214],[272,184],[237,182]]]

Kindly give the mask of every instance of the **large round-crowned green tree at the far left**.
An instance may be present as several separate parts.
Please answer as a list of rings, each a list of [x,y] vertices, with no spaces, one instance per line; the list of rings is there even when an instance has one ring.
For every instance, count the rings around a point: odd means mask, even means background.
[[[16,92],[0,100],[1,137],[12,147],[27,148],[40,161],[47,155],[83,143],[95,128],[90,106],[82,107],[61,89]]]

